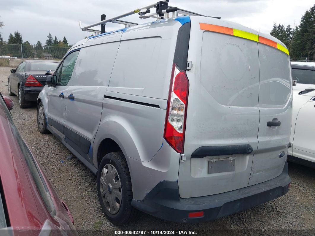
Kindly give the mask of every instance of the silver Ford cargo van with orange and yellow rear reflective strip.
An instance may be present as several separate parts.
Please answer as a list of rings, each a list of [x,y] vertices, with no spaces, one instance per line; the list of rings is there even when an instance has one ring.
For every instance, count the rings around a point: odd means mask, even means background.
[[[209,221],[289,190],[291,67],[270,35],[161,19],[80,41],[46,84],[38,129],[97,175],[114,224]]]

